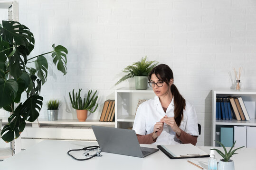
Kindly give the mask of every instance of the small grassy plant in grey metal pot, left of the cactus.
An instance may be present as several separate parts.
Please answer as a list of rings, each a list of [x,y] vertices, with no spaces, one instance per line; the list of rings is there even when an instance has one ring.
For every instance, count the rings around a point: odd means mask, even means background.
[[[48,120],[57,120],[58,119],[58,109],[60,107],[61,102],[57,99],[49,100],[46,103]]]

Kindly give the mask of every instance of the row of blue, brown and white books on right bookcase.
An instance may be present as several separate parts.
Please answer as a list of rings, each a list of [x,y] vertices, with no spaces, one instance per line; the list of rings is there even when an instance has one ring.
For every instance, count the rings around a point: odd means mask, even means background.
[[[242,97],[217,97],[216,98],[216,120],[250,120]]]

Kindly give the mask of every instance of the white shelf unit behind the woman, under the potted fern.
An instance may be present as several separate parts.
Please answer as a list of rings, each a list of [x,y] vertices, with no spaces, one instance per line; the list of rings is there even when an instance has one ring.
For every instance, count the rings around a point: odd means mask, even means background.
[[[155,94],[151,88],[146,90],[120,88],[115,90],[115,127],[132,127],[138,100],[148,100],[154,96]]]

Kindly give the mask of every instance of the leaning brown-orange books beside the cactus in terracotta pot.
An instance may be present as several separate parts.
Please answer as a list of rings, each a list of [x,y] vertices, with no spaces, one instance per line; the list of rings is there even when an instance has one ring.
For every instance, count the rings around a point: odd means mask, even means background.
[[[104,102],[100,121],[114,121],[114,100]]]

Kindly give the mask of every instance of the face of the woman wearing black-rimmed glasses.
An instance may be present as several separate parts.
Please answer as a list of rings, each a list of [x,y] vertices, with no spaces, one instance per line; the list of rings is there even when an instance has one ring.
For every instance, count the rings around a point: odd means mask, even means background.
[[[170,85],[172,84],[172,80],[170,80]],[[151,76],[151,82],[153,83],[158,83],[161,84],[160,82],[163,82],[161,80],[159,80],[155,74],[152,74]],[[163,96],[163,95],[167,95],[168,93],[171,93],[171,89],[169,89],[170,87],[165,83],[163,82],[163,85],[161,87],[158,86],[158,84],[156,84],[154,87],[152,87],[154,93],[160,97],[160,96]]]

